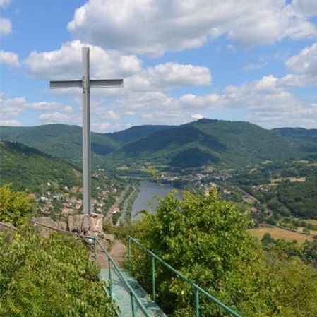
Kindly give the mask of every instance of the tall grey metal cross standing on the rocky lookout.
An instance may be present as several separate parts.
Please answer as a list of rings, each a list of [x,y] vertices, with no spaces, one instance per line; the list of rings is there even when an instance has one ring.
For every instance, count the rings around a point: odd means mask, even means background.
[[[123,79],[91,80],[89,47],[83,47],[83,78],[81,80],[50,81],[50,88],[83,88],[83,213],[90,214],[90,87],[122,87]]]

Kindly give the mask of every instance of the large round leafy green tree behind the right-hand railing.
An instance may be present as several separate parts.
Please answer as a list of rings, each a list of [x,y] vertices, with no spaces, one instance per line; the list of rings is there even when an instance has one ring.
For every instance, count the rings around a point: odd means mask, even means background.
[[[138,224],[138,239],[167,263],[205,288],[242,316],[278,316],[277,278],[261,253],[261,244],[246,228],[249,220],[233,203],[208,196],[173,193],[160,201],[157,213]],[[136,255],[133,273],[150,289],[149,259]],[[157,297],[172,316],[193,314],[193,289],[172,273],[157,268]],[[201,316],[227,316],[201,300]]]

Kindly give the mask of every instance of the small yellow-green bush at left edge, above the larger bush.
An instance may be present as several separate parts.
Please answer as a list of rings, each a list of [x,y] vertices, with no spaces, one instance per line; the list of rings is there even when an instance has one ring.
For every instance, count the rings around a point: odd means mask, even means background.
[[[13,191],[10,185],[0,187],[0,221],[21,225],[31,207],[32,201],[24,191]]]

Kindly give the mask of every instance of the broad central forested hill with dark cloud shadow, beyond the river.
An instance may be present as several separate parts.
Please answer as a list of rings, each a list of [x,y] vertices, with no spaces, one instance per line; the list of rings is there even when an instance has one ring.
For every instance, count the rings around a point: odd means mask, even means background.
[[[239,168],[265,160],[301,159],[304,141],[255,124],[201,119],[128,143],[108,155],[109,162],[154,162],[171,167]]]

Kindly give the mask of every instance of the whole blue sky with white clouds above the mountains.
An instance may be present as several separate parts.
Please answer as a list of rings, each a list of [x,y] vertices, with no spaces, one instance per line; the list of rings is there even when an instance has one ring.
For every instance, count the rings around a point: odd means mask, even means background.
[[[0,125],[81,126],[90,47],[92,131],[200,118],[317,128],[316,0],[0,0]]]

